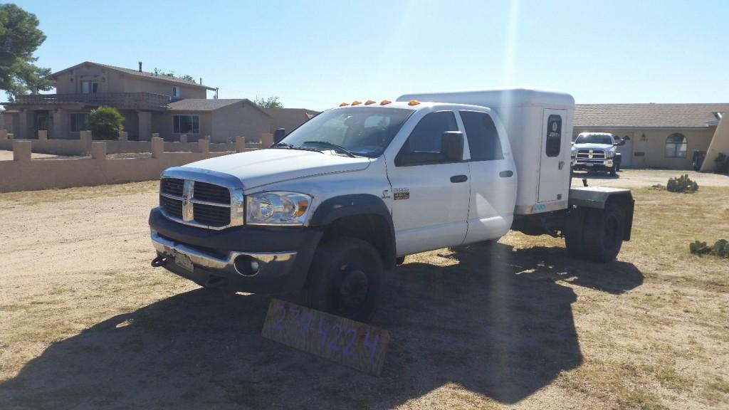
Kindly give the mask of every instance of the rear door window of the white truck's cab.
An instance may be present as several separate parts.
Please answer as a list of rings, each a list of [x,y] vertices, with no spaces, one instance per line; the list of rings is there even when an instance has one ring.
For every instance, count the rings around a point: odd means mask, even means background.
[[[466,128],[471,160],[502,160],[501,141],[496,124],[486,112],[460,111],[461,120]]]

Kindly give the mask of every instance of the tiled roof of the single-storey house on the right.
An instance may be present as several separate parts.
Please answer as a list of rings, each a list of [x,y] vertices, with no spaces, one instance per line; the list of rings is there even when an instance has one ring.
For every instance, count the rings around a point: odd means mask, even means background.
[[[706,128],[729,104],[577,104],[575,127]]]

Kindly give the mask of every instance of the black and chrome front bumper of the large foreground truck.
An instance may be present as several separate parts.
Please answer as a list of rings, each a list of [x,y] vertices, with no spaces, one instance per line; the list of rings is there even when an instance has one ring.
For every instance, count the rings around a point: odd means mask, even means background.
[[[321,239],[311,228],[195,228],[169,220],[159,208],[150,212],[149,228],[168,271],[249,293],[301,290]]]

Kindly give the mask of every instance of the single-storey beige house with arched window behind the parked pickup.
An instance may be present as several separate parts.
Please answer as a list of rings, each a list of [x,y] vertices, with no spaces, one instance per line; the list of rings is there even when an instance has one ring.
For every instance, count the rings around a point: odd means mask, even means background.
[[[623,166],[692,169],[693,152],[723,138],[717,125],[728,112],[729,104],[577,104],[573,139],[586,131],[628,136],[618,148]]]

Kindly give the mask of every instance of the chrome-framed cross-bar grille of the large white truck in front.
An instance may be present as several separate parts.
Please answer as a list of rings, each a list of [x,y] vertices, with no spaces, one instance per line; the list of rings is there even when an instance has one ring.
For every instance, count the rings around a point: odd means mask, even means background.
[[[235,204],[241,204],[237,209],[241,212],[242,195],[238,196]],[[240,218],[231,224],[232,202],[231,190],[222,185],[182,178],[160,180],[160,208],[166,217],[187,225],[211,229],[241,225]]]

